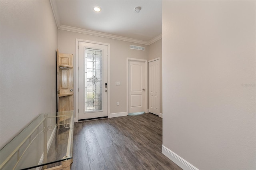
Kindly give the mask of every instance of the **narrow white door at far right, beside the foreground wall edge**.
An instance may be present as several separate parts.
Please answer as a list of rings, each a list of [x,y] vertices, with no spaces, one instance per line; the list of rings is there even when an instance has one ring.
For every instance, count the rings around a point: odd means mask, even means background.
[[[149,61],[149,112],[159,115],[160,65],[159,59]]]

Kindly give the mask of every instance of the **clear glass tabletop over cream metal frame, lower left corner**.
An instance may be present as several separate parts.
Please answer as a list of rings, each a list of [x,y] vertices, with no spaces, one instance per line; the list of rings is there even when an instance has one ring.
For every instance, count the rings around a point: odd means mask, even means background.
[[[45,169],[72,159],[73,117],[74,111],[39,115],[0,150],[0,170]]]

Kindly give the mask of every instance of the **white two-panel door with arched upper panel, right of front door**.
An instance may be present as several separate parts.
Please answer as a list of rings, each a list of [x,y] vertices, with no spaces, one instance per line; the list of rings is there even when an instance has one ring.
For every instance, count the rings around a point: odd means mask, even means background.
[[[128,60],[128,113],[145,112],[145,61]]]

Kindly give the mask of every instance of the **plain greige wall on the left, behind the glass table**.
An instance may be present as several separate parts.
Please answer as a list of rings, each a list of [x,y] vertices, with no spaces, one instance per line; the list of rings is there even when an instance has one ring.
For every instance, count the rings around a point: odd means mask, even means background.
[[[1,0],[0,148],[56,111],[57,43],[49,1]]]

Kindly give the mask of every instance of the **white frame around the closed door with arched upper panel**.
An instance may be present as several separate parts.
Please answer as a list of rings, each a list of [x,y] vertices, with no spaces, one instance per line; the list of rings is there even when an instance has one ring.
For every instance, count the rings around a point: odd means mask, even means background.
[[[144,95],[144,112],[148,113],[148,60],[127,58],[126,59],[126,111],[129,114],[129,61],[144,61],[144,84],[145,84],[145,95]]]

